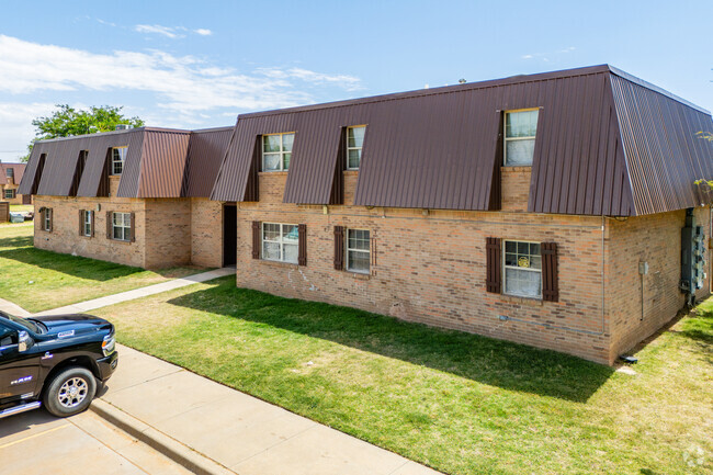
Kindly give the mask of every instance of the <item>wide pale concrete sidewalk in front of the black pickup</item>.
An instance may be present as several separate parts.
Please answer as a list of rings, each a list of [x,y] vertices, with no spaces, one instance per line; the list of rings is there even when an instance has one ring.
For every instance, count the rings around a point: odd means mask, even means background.
[[[240,475],[433,475],[393,452],[118,348],[101,399]]]

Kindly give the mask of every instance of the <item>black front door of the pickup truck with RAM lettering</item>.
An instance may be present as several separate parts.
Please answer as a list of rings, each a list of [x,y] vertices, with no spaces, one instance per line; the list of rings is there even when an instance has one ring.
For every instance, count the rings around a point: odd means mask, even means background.
[[[20,352],[18,330],[0,324],[0,404],[34,394],[39,357],[34,348]]]

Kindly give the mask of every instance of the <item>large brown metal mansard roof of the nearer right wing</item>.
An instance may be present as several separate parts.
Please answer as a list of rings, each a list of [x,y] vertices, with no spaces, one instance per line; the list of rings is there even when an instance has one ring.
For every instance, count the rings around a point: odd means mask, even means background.
[[[502,112],[540,108],[528,211],[630,216],[700,204],[711,114],[608,65],[242,114],[212,197],[257,200],[259,136],[295,132],[283,201],[338,203],[343,128],[366,124],[354,204],[498,210]]]

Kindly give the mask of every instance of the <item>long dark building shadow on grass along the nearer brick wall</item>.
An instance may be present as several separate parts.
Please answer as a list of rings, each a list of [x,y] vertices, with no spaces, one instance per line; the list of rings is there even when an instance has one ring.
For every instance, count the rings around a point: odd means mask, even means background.
[[[548,350],[443,330],[349,307],[235,287],[235,278],[170,299],[498,386],[585,403],[613,369]]]

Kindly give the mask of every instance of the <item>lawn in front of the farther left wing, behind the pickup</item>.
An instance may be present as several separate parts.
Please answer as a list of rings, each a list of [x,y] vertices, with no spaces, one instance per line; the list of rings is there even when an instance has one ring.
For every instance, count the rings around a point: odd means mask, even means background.
[[[0,296],[41,312],[197,272],[139,268],[35,249],[32,223],[0,226]]]

